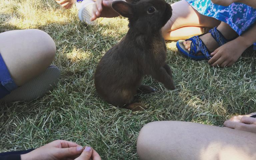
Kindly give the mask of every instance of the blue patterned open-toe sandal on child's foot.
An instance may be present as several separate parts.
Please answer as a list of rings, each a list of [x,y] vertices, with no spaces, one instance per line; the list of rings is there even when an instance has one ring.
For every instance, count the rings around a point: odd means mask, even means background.
[[[219,30],[217,30],[217,27],[214,27],[209,31],[211,33],[212,37],[218,42],[219,46],[222,46],[223,44],[231,41],[227,40]],[[206,34],[206,33],[205,33]],[[176,46],[180,53],[185,56],[188,59],[192,60],[209,60],[212,58],[211,52],[208,50],[204,42],[199,38],[204,34],[201,34],[199,36],[194,36],[186,40],[179,40],[176,43]],[[184,41],[192,41],[190,45],[190,51],[188,51],[185,46],[183,45]],[[203,55],[198,55],[198,53],[201,52]]]

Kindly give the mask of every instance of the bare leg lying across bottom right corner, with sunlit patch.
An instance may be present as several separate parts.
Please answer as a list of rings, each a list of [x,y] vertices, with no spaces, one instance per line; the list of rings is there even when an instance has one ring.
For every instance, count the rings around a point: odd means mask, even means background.
[[[254,160],[256,134],[191,122],[145,125],[138,137],[141,160]]]

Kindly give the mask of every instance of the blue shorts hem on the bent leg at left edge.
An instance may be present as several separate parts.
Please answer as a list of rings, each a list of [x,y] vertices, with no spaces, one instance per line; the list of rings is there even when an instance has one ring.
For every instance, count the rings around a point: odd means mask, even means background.
[[[18,86],[13,81],[8,68],[0,54],[0,99],[9,94]]]

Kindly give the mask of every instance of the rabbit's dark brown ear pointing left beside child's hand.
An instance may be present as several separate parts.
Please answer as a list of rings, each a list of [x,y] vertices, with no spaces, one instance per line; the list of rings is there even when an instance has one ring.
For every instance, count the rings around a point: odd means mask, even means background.
[[[127,3],[125,1],[114,1],[112,2],[112,8],[119,13],[120,15],[131,18],[132,13],[132,4]]]

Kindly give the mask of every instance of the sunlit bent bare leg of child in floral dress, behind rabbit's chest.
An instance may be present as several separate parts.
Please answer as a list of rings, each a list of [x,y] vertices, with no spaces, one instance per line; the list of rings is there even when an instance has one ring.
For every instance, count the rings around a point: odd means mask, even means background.
[[[220,24],[219,20],[197,12],[185,0],[173,3],[171,6],[172,17],[162,28],[166,40],[179,40],[179,37],[187,38],[191,35],[198,35],[201,34],[202,27],[213,28]]]

